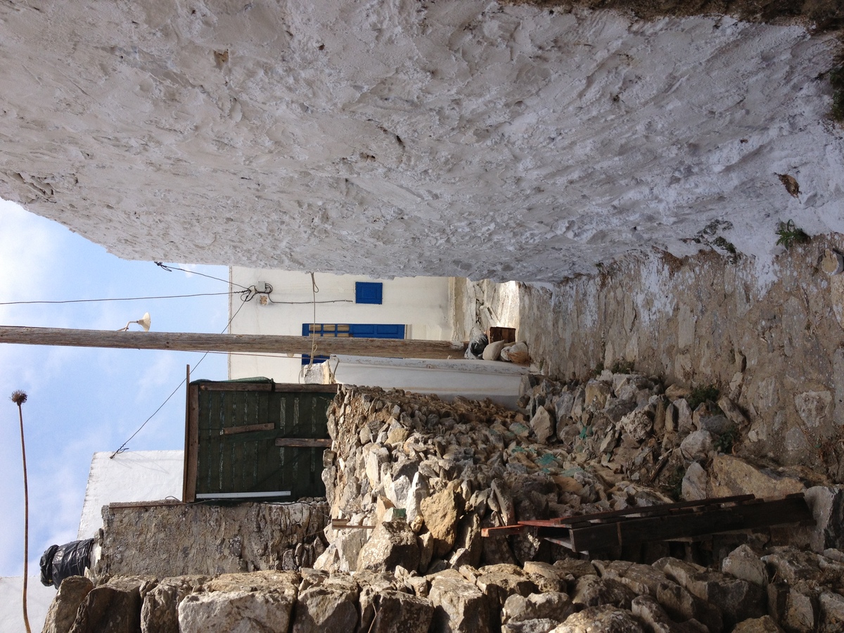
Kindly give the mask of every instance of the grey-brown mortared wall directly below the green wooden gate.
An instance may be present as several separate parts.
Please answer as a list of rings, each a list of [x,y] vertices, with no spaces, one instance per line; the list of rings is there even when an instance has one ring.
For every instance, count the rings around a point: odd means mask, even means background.
[[[319,501],[104,506],[92,571],[106,579],[299,569],[322,554],[326,524]]]

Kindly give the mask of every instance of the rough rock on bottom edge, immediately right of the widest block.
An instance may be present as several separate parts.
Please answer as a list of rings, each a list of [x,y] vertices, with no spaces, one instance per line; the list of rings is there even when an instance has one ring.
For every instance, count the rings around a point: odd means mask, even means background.
[[[354,630],[358,624],[358,596],[354,582],[346,586],[326,583],[306,589],[296,603],[292,633]]]

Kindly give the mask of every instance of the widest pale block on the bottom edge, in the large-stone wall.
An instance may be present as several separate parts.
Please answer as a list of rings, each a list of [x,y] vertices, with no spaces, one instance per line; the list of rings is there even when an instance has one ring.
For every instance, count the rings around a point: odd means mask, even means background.
[[[192,593],[179,604],[181,633],[289,630],[294,600],[283,592]]]

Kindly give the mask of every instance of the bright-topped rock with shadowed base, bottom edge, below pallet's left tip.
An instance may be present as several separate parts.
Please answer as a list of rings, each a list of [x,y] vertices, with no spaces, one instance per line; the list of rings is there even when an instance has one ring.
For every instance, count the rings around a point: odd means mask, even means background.
[[[443,633],[491,633],[490,601],[459,574],[436,576],[428,594],[434,604],[432,630]]]

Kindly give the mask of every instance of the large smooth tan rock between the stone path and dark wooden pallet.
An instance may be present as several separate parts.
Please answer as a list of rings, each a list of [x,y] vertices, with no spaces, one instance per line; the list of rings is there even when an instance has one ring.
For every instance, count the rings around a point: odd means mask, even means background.
[[[711,497],[783,497],[802,492],[804,488],[803,483],[793,476],[775,473],[770,468],[757,468],[732,455],[713,457],[709,478]]]

